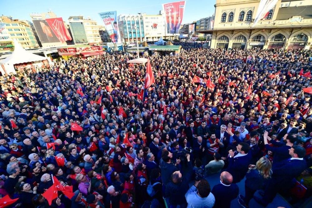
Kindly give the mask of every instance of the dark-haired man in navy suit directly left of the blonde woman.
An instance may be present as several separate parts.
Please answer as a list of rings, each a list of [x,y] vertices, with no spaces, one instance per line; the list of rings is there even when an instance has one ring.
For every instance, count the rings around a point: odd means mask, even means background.
[[[248,170],[248,166],[251,161],[251,154],[248,153],[250,146],[245,142],[240,142],[236,146],[236,155],[232,150],[229,151],[229,165],[227,166],[226,171],[232,174],[233,183],[238,183],[241,181]]]

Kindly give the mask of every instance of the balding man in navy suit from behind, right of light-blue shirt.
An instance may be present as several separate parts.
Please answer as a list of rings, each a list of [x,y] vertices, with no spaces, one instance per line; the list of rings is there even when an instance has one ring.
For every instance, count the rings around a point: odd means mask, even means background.
[[[231,201],[238,196],[239,188],[235,183],[232,183],[233,176],[227,171],[221,173],[220,182],[211,190],[216,200],[214,207],[230,208]]]

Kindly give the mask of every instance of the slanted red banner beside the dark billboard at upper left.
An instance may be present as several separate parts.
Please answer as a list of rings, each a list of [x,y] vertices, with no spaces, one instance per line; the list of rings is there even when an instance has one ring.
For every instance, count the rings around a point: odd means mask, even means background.
[[[61,42],[71,40],[71,35],[65,27],[62,17],[46,19],[46,22]]]

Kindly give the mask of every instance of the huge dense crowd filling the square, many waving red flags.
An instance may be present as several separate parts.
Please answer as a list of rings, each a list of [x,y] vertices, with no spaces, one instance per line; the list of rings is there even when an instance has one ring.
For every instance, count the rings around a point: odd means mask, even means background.
[[[146,66],[124,52],[0,77],[2,199],[225,208],[237,197],[266,206],[295,181],[309,190],[312,51],[181,44],[178,55],[149,56],[155,84],[145,95]],[[210,174],[220,184],[210,187]]]

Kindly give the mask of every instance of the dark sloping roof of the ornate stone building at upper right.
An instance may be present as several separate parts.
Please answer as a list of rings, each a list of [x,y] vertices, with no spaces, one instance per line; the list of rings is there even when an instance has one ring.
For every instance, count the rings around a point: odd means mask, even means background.
[[[285,7],[278,10],[276,20],[289,19],[293,16],[301,16],[305,19],[312,18],[312,5],[301,7]]]

